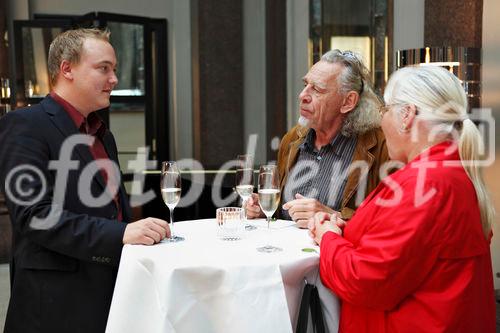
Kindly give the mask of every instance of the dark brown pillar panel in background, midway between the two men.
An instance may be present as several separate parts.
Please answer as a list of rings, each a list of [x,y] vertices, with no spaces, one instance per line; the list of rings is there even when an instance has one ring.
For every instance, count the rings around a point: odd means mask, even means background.
[[[218,168],[243,153],[243,4],[192,0],[191,10],[195,158]]]

